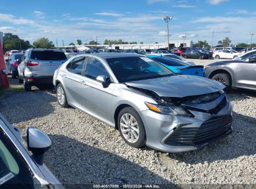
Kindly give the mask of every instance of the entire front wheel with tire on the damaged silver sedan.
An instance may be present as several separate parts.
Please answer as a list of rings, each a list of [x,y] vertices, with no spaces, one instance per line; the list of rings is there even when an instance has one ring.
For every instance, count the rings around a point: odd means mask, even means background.
[[[146,145],[146,132],[140,115],[134,108],[126,107],[118,114],[118,130],[126,144],[141,148]]]

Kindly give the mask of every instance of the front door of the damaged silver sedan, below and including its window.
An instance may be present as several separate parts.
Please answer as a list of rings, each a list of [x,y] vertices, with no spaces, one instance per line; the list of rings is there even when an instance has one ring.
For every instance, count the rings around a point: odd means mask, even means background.
[[[96,118],[111,122],[111,104],[115,83],[103,88],[102,83],[96,80],[97,76],[110,76],[103,63],[94,57],[89,57],[85,68],[85,85],[81,92],[85,108]]]

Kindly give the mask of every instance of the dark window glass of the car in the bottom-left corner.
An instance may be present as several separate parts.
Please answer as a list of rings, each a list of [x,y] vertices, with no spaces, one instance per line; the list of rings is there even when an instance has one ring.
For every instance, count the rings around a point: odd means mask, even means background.
[[[0,188],[34,188],[29,168],[0,130]]]

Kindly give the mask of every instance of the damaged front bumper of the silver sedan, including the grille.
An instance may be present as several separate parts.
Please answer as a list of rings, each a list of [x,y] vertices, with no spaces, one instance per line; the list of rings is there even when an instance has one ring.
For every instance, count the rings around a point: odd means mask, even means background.
[[[224,93],[211,103],[198,104],[197,108],[187,104],[186,108],[194,118],[159,114],[149,109],[141,111],[146,145],[164,152],[184,152],[204,147],[232,132],[232,108]]]

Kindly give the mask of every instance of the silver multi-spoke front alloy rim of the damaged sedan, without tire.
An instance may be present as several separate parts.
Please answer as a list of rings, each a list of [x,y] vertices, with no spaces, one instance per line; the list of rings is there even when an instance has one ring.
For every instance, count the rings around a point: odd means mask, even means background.
[[[138,141],[140,136],[138,122],[131,114],[125,113],[121,116],[120,129],[128,142],[135,143]]]

